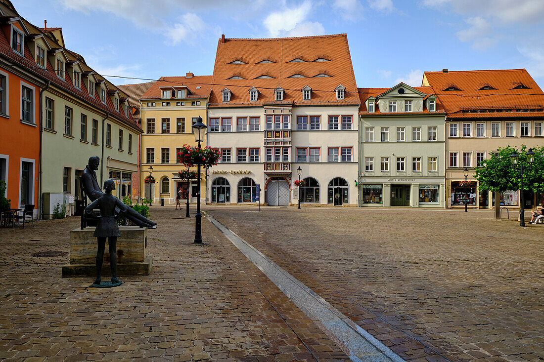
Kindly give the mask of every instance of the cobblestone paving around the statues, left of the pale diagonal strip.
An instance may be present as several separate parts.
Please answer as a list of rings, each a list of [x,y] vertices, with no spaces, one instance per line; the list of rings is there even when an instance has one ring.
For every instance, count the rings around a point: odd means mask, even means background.
[[[79,218],[0,229],[0,360],[347,360],[206,219],[196,246],[194,217],[151,212],[152,274],[115,289],[61,278],[68,254],[31,255],[69,251]]]

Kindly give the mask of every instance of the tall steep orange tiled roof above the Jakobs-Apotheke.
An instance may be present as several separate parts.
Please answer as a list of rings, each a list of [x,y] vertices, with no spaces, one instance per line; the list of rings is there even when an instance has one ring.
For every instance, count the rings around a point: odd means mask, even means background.
[[[295,59],[302,61],[292,61]],[[243,64],[232,64],[233,61]],[[304,77],[289,78],[294,74]],[[315,77],[318,74],[330,77]],[[243,79],[229,79],[234,76]],[[256,79],[259,76],[272,78]],[[346,34],[274,39],[221,38],[215,56],[213,84],[211,107],[359,103]],[[311,101],[302,101],[301,89],[306,85],[312,88]],[[338,85],[345,87],[343,100],[336,99]],[[257,102],[249,101],[249,90],[253,87],[259,91]],[[284,90],[283,102],[275,102],[274,90],[278,87]],[[224,103],[221,91],[225,88],[231,91],[231,99]]]

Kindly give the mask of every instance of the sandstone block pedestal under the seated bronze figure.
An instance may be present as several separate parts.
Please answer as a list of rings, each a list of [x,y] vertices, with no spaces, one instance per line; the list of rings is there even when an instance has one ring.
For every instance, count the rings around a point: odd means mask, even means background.
[[[149,275],[152,257],[147,255],[147,229],[137,226],[120,226],[117,238],[117,275]],[[70,264],[63,266],[64,277],[96,277],[97,240],[92,234],[95,227],[70,232]],[[108,241],[104,248],[102,279],[111,276]]]

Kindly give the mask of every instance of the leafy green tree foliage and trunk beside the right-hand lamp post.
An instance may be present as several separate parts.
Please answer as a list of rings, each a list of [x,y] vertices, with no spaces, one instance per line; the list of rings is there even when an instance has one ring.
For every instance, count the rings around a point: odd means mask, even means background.
[[[510,155],[517,153],[518,165],[523,166],[523,189],[534,192],[544,192],[544,146],[533,148],[535,160],[529,170],[527,146],[516,149],[512,146],[499,147],[497,153],[478,165],[474,177],[480,182],[480,191],[491,190],[495,193],[495,219],[499,218],[499,194],[507,190],[519,190],[521,174],[510,161]]]

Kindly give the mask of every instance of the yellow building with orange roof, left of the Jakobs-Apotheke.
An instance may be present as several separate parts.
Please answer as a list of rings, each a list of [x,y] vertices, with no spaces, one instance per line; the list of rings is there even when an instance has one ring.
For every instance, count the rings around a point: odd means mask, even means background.
[[[140,195],[152,204],[175,205],[178,191],[182,203],[197,201],[197,179],[181,179],[187,167],[177,163],[183,145],[196,146],[191,126],[201,117],[206,123],[206,108],[211,92],[211,76],[162,77],[140,98],[141,135]],[[201,143],[206,147],[206,139]],[[196,171],[196,167],[191,167]],[[206,199],[206,171],[201,170],[201,202]],[[146,184],[152,174],[156,183]]]

